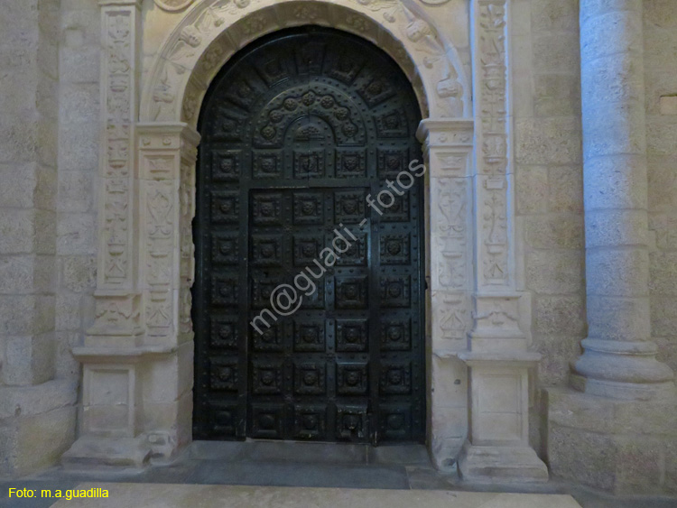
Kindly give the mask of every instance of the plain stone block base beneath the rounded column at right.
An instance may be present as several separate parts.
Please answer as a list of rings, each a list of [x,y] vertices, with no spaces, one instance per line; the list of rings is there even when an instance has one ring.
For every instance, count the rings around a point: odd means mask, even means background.
[[[546,391],[552,475],[613,494],[677,493],[677,404]]]

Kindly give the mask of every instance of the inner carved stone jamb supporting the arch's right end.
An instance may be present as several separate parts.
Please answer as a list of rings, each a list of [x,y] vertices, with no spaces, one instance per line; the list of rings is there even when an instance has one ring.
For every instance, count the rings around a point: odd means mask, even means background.
[[[468,415],[467,387],[460,381],[468,374],[457,355],[466,349],[472,327],[473,121],[426,119],[418,137],[431,197],[427,242],[431,245],[431,455],[438,466],[445,466],[459,454]]]

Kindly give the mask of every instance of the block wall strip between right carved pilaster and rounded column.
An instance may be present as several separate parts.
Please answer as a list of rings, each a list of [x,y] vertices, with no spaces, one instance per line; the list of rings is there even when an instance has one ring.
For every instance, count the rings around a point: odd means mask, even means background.
[[[515,0],[513,16],[517,266],[538,383],[565,384],[586,335],[579,2]]]

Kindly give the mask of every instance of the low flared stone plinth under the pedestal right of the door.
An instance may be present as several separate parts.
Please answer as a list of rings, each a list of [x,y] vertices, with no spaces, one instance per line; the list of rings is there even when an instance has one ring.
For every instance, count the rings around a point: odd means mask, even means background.
[[[477,447],[469,442],[459,457],[464,480],[483,483],[547,482],[548,468],[529,447]]]

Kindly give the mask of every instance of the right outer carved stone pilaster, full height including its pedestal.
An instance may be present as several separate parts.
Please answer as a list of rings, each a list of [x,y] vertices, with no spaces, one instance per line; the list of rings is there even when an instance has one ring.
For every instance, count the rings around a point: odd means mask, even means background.
[[[464,479],[546,481],[529,447],[531,301],[516,291],[512,139],[507,83],[509,2],[474,0],[476,231],[474,325],[468,351],[469,429],[459,457]]]

